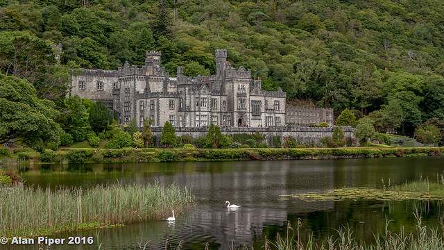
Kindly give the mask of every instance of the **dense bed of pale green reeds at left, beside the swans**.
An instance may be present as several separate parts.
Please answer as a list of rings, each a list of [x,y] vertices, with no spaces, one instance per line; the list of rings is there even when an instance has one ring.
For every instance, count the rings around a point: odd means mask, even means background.
[[[0,235],[34,237],[167,218],[185,212],[194,197],[159,183],[97,185],[94,188],[0,190]]]

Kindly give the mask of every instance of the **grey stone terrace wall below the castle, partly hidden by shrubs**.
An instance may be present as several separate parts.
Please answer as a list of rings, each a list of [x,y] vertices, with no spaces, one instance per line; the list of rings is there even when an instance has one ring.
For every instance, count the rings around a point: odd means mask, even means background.
[[[181,135],[189,135],[193,139],[197,139],[200,137],[205,137],[208,133],[208,126],[205,127],[187,127],[187,128],[179,128],[176,127],[176,136]],[[330,126],[327,128],[311,128],[309,126],[273,126],[268,128],[237,128],[232,126],[220,126],[221,133],[224,135],[234,135],[234,134],[242,134],[242,133],[260,133],[265,135],[266,142],[269,145],[273,144],[273,137],[279,136],[281,144],[284,142],[285,137],[291,136],[295,138],[296,141],[300,144],[302,143],[311,143],[311,142],[320,142],[323,138],[333,136],[333,131],[336,126]],[[355,138],[353,133],[355,132],[355,128],[350,126],[343,126],[343,131],[345,132],[345,138],[351,139]],[[153,128],[153,135],[157,137],[157,147],[160,146],[160,138],[162,136],[162,127]]]

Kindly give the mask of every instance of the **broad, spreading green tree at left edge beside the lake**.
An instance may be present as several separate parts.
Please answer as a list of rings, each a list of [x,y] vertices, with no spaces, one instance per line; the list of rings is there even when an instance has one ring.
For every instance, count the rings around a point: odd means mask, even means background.
[[[60,144],[61,129],[53,121],[58,115],[56,106],[38,99],[35,92],[28,81],[0,74],[0,144],[9,140]]]

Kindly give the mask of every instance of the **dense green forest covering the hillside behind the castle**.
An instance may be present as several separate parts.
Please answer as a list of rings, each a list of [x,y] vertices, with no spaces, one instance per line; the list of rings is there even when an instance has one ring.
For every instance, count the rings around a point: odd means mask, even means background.
[[[0,72],[55,98],[68,68],[142,65],[155,49],[171,75],[179,65],[214,74],[225,48],[289,101],[373,119],[402,110],[399,128],[413,134],[444,119],[443,10],[435,0],[0,0]],[[62,65],[45,46],[59,43]]]

